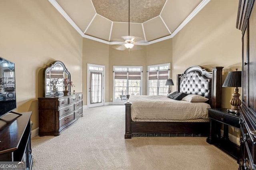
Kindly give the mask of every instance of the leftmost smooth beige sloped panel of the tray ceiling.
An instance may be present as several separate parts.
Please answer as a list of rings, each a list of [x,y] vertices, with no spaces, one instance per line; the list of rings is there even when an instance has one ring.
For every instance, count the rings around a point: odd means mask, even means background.
[[[56,0],[56,2],[83,32],[96,13],[91,0]]]

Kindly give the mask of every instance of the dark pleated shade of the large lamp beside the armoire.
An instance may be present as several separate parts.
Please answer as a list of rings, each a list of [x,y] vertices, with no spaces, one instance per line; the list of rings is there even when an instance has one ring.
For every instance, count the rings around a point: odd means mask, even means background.
[[[242,86],[242,71],[231,71],[222,85],[222,87],[241,87]]]

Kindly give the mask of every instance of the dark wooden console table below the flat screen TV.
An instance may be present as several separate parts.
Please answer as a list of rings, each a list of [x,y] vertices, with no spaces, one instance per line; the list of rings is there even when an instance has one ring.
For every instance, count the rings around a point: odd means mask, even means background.
[[[0,161],[25,162],[32,168],[30,117],[32,111],[15,115],[9,113],[0,118]]]

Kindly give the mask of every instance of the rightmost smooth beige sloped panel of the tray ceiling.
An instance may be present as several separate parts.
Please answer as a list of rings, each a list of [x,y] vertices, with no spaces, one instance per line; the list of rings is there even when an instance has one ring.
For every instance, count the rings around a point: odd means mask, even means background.
[[[168,0],[162,11],[162,18],[173,32],[202,0]]]

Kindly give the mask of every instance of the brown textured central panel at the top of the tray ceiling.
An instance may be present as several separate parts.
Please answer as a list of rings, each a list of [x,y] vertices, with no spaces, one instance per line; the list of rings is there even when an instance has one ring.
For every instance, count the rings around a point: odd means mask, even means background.
[[[143,23],[160,15],[166,0],[130,0],[130,22]],[[128,0],[92,0],[97,14],[109,20],[128,22]]]

